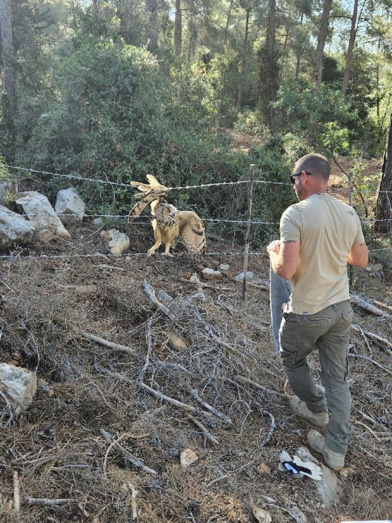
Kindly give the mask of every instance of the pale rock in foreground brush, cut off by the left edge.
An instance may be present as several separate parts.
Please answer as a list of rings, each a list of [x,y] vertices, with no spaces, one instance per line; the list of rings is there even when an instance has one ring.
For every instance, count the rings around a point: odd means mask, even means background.
[[[0,390],[6,396],[11,409],[18,415],[25,411],[37,392],[37,374],[28,369],[0,363]],[[7,407],[0,396],[2,408]]]

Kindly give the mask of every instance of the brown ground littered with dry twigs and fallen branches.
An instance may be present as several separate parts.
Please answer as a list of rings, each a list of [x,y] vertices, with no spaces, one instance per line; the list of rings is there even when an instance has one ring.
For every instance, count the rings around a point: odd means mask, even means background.
[[[314,480],[278,470],[282,450],[306,446],[313,427],[287,403],[268,291],[247,285],[243,303],[233,279],[243,270],[241,247],[207,239],[201,265],[181,246],[174,258],[147,258],[146,227],[133,231],[125,256],[89,257],[106,253],[98,226],[70,232],[71,241],[32,243],[0,260],[1,361],[19,359],[40,380],[24,415],[10,420],[5,410],[1,418],[2,522],[133,521],[133,488],[137,521],[149,523],[252,522],[253,506],[277,523],[305,521],[293,507],[309,523],[392,516],[390,317],[354,308],[353,472],[339,477],[342,492],[327,506]],[[221,280],[203,282],[201,269],[221,263],[229,265]],[[268,280],[266,255],[252,254],[248,270]],[[203,285],[189,280],[194,272]],[[151,289],[172,301],[154,302]],[[392,304],[391,281],[379,271],[354,271],[352,289]],[[318,380],[317,357],[309,364]],[[187,448],[198,460],[182,468]]]

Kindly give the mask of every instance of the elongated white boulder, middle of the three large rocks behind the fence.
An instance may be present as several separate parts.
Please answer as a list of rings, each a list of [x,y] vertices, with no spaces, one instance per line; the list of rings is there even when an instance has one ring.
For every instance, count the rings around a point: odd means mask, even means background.
[[[46,196],[37,191],[20,192],[15,201],[19,212],[27,214],[34,229],[42,231],[48,229],[56,236],[69,239],[71,234],[64,228],[60,218],[54,212]]]

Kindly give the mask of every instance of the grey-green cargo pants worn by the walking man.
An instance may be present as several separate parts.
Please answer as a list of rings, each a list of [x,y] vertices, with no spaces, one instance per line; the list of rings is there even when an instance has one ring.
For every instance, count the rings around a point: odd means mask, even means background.
[[[351,393],[347,383],[348,342],[353,311],[349,301],[330,305],[316,314],[294,314],[283,304],[279,331],[280,356],[291,388],[312,412],[331,413],[326,435],[330,450],[345,454],[352,431]],[[317,349],[325,396],[316,387],[306,357]]]

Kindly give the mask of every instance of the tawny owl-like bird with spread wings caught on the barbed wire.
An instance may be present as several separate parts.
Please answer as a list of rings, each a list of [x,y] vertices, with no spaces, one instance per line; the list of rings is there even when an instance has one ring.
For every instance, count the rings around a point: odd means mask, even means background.
[[[202,221],[195,212],[179,211],[167,203],[164,195],[169,189],[160,185],[152,175],[147,175],[147,179],[150,182],[149,185],[132,182],[132,185],[138,187],[142,194],[137,195],[141,201],[131,209],[128,217],[128,223],[132,223],[148,203],[150,204],[151,214],[154,216],[151,224],[155,244],[148,249],[147,256],[152,256],[162,243],[165,244],[164,256],[172,256],[170,247],[175,247],[176,238],[180,236],[188,254],[193,259],[200,261],[205,254],[205,233]]]

